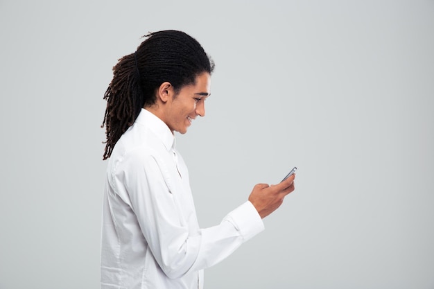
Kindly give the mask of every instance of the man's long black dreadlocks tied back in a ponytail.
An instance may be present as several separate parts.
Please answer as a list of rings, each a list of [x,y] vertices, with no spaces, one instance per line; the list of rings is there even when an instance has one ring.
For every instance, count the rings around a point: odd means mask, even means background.
[[[214,70],[214,61],[199,42],[182,31],[163,30],[144,37],[137,51],[113,67],[113,79],[103,97],[107,100],[101,125],[107,137],[103,159],[112,155],[141,109],[155,103],[159,85],[170,82],[176,92],[193,84],[201,73]]]

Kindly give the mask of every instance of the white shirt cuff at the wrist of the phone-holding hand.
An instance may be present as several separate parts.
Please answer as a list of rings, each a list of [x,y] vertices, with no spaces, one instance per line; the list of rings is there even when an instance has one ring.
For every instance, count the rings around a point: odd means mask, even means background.
[[[234,225],[243,236],[244,242],[265,229],[261,216],[250,201],[228,213],[225,220]]]

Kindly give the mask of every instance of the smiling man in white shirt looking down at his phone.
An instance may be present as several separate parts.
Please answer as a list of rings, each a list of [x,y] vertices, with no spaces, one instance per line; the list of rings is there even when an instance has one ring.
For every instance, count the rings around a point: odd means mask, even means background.
[[[214,62],[186,33],[147,36],[116,64],[105,93],[101,288],[203,288],[202,270],[263,230],[295,176],[257,184],[220,225],[200,229],[174,133],[205,116]]]

